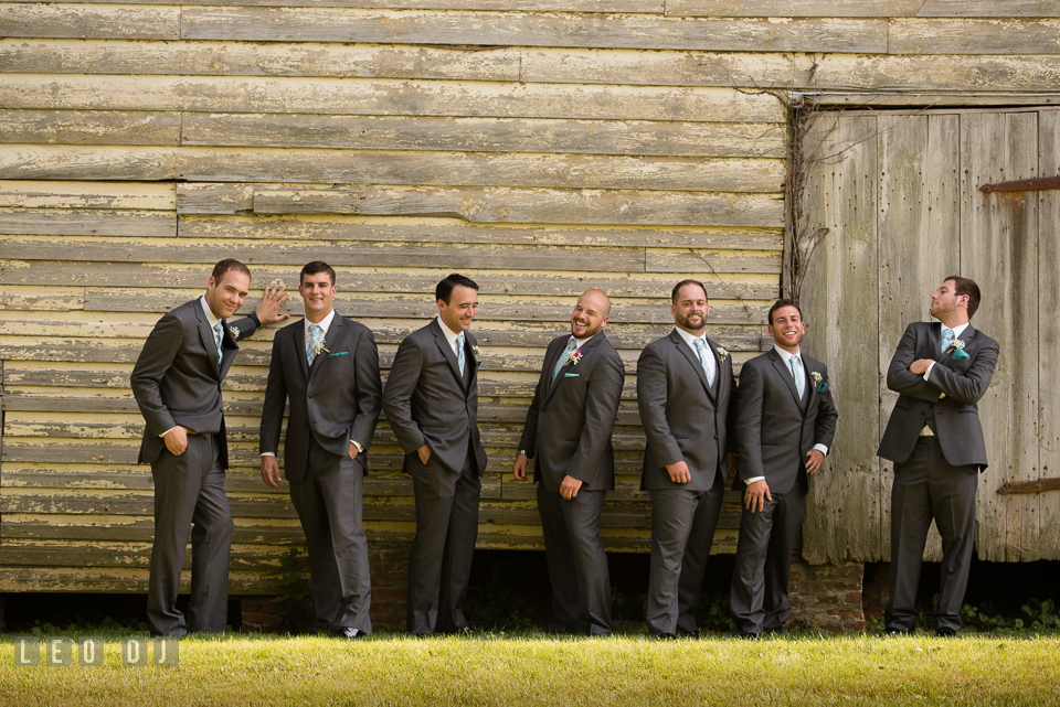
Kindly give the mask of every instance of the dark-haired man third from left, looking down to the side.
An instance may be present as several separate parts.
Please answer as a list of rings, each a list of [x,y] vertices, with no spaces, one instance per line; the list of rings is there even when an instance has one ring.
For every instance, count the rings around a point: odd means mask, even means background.
[[[471,634],[464,594],[478,538],[486,450],[478,432],[478,285],[453,274],[435,288],[438,317],[398,346],[383,410],[412,475],[416,535],[409,555],[409,631]]]

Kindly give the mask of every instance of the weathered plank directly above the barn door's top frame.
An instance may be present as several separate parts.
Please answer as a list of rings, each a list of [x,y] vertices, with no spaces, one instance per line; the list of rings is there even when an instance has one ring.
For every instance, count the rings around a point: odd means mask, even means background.
[[[1060,6],[1058,6],[1060,7]],[[807,57],[806,61],[809,61]],[[851,90],[1035,92],[1060,86],[1060,56],[855,56],[815,57],[820,86]],[[924,100],[921,96],[918,99]]]

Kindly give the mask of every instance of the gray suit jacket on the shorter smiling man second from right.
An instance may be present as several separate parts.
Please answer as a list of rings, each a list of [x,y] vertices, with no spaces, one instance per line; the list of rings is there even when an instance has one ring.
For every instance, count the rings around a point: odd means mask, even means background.
[[[740,371],[738,489],[748,479],[765,476],[772,493],[787,493],[806,468],[806,452],[814,444],[831,447],[839,414],[827,385],[828,368],[805,354],[799,357],[806,372],[802,399],[791,368],[775,350],[752,358]],[[814,382],[815,373],[820,384]]]

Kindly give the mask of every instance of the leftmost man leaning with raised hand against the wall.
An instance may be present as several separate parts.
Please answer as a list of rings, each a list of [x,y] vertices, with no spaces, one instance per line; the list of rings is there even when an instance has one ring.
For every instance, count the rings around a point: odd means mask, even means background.
[[[206,293],[162,317],[129,378],[146,422],[140,463],[155,480],[155,542],[147,588],[152,635],[221,633],[227,624],[232,512],[224,495],[229,447],[221,382],[236,343],[259,325],[283,321],[287,294],[269,287],[250,317],[229,323],[251,288],[239,260],[218,263]],[[177,610],[180,570],[191,532],[191,601]]]

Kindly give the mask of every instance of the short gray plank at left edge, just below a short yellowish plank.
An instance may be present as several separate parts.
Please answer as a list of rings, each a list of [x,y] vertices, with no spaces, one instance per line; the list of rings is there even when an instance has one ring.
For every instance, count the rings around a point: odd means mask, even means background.
[[[0,208],[0,234],[171,238],[177,213],[103,208]],[[8,250],[4,239],[3,256]]]

